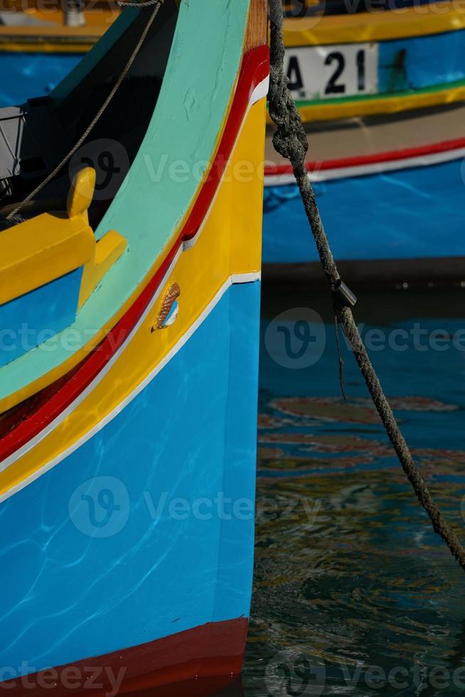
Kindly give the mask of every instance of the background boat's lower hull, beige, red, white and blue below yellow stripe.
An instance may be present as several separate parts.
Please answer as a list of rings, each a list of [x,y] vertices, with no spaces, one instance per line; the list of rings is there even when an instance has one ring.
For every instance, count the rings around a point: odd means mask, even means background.
[[[307,169],[345,279],[464,282],[464,119],[454,105],[308,128]],[[270,142],[267,162],[264,272],[321,280],[292,169]]]

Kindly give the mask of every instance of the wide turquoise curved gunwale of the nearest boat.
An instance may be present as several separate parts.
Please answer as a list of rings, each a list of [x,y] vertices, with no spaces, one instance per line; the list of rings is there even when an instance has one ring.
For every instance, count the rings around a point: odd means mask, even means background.
[[[0,399],[68,360],[73,353],[69,346],[74,351],[85,346],[142,289],[144,278],[173,240],[199,183],[195,176],[173,181],[169,163],[183,161],[193,168],[212,159],[240,69],[249,5],[250,0],[181,2],[154,116],[122,188],[95,231],[100,239],[108,230],[118,230],[128,240],[128,250],[73,325],[0,369]],[[127,12],[117,20],[113,36],[119,36],[120,22],[127,26]],[[96,50],[101,55],[99,45],[91,53]],[[160,181],[152,181],[166,156],[164,174]]]

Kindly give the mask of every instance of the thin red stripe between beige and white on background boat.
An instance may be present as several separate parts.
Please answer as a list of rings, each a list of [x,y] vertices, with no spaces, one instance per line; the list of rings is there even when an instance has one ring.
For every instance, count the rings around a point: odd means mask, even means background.
[[[380,164],[383,162],[395,162],[412,157],[422,157],[434,155],[441,152],[458,150],[465,148],[465,138],[455,140],[444,140],[440,143],[424,145],[416,148],[405,148],[402,150],[392,150],[387,152],[375,153],[373,155],[360,155],[356,157],[345,157],[333,160],[321,160],[306,162],[307,171],[322,171],[326,169],[343,169],[345,167],[363,167],[370,164]],[[276,176],[279,174],[292,174],[292,166],[287,164],[267,166],[264,171],[265,176]]]

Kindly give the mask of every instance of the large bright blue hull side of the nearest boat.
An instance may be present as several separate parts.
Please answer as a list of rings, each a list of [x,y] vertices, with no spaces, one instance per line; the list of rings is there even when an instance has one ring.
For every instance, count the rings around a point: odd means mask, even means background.
[[[8,678],[248,616],[259,306],[259,283],[232,286],[119,415],[2,504]]]

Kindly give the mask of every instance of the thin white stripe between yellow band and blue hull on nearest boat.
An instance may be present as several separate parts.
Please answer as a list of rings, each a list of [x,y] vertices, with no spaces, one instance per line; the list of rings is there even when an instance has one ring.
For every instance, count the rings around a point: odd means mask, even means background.
[[[21,489],[24,489],[24,487],[28,486],[28,484],[31,484],[31,482],[36,481],[36,479],[41,477],[43,474],[48,472],[50,469],[53,469],[53,467],[55,467],[55,465],[62,462],[63,459],[65,459],[70,454],[75,452],[75,450],[77,450],[82,445],[84,445],[84,443],[87,442],[87,440],[90,440],[90,438],[92,438],[96,433],[98,433],[100,430],[102,430],[102,428],[104,428],[110,421],[112,421],[114,419],[114,417],[116,417],[119,413],[121,413],[122,410],[124,408],[126,408],[127,405],[129,405],[129,403],[131,403],[132,400],[134,400],[134,398],[136,398],[137,395],[139,395],[139,393],[141,393],[141,391],[144,390],[144,388],[146,388],[146,386],[149,385],[149,383],[151,383],[151,381],[154,380],[154,378],[163,370],[163,368],[169,363],[169,361],[171,361],[171,358],[173,358],[173,356],[176,356],[176,353],[178,353],[178,351],[180,351],[183,348],[184,344],[186,344],[186,342],[189,339],[191,339],[191,336],[193,336],[194,332],[198,329],[199,326],[201,326],[201,324],[203,324],[203,321],[205,321],[205,319],[207,319],[208,315],[213,311],[213,309],[216,307],[218,302],[220,302],[220,299],[223,297],[225,292],[232,285],[257,282],[257,281],[260,281],[260,278],[261,278],[260,272],[251,272],[251,273],[245,273],[245,274],[233,274],[232,276],[230,276],[228,278],[228,280],[225,281],[223,286],[220,287],[220,289],[218,290],[215,297],[213,297],[213,299],[210,300],[210,302],[208,303],[207,307],[205,307],[205,309],[203,310],[201,315],[198,316],[198,319],[196,319],[196,321],[194,321],[193,324],[191,324],[189,329],[186,331],[186,334],[183,334],[183,336],[181,336],[181,339],[179,339],[177,344],[175,344],[175,346],[173,346],[171,351],[169,351],[169,353],[167,353],[166,356],[164,356],[164,358],[160,361],[160,363],[157,366],[155,366],[155,368],[151,371],[151,373],[149,373],[149,375],[147,375],[144,378],[144,380],[142,380],[141,383],[139,383],[139,385],[137,385],[137,387],[135,387],[134,390],[132,390],[132,392],[129,395],[127,395],[127,397],[124,398],[124,400],[122,400],[122,402],[120,402],[111,412],[109,412],[102,419],[102,421],[95,424],[95,426],[92,427],[89,431],[87,431],[85,433],[85,435],[83,435],[79,440],[75,441],[73,443],[73,445],[71,445],[70,447],[65,449],[63,452],[61,452],[59,455],[57,455],[57,457],[55,457],[54,459],[50,460],[50,462],[47,462],[47,464],[45,464],[43,467],[38,469],[36,472],[33,472],[33,474],[31,474],[29,477],[27,477],[26,479],[23,479],[23,481],[21,481],[20,484],[16,484],[16,486],[11,487],[11,489],[9,489],[9,491],[6,491],[4,494],[1,494],[0,495],[0,503],[2,501],[5,501],[6,499],[9,499],[10,496],[13,496],[18,491],[21,491]],[[103,373],[103,371],[102,371],[102,373]],[[97,378],[95,378],[94,383],[92,383],[93,386],[95,386],[95,384],[97,382],[100,382],[100,380],[103,377],[102,373],[100,373],[99,376],[97,376]],[[82,393],[82,395],[80,395],[80,397],[77,398],[77,400],[75,400],[74,408],[76,408],[77,405],[80,402],[82,402],[82,400],[84,398],[85,397],[83,396],[83,393]],[[36,437],[36,439],[34,439],[35,442],[31,442],[31,447],[33,447],[33,445],[36,445],[36,443],[39,440],[42,440],[42,438],[43,438],[42,434],[38,435]]]

